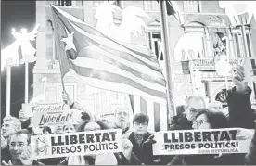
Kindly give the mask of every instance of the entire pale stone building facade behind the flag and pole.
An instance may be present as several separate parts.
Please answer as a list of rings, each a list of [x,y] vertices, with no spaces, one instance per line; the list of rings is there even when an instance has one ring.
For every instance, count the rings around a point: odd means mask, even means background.
[[[84,22],[96,27],[96,3],[101,1],[36,1],[36,23],[40,29],[36,39],[37,62],[33,69],[33,96],[45,96],[45,103],[61,101],[63,90],[58,66],[58,57],[53,40],[53,22],[50,5],[59,8],[71,15],[83,19]],[[219,7],[218,1],[176,1],[183,21],[176,16],[168,16],[169,43],[171,48],[171,64],[173,66],[173,101],[175,106],[184,104],[187,96],[198,94],[209,98],[209,101],[219,100],[225,104],[225,78],[219,76],[215,69],[215,59],[227,43],[220,38],[227,36],[231,64],[237,63],[237,58],[254,56],[251,38],[253,30],[246,27],[246,40],[242,38],[239,27],[231,28],[230,21]],[[116,1],[115,4],[124,9],[126,6],[138,6],[144,9],[151,19],[143,19],[147,28],[142,35],[132,35],[132,43],[147,45],[157,56],[160,67],[164,69],[164,56],[161,47],[160,6],[157,1]],[[122,21],[122,12],[114,12],[114,23],[119,26]],[[192,39],[192,40],[191,40]],[[227,49],[227,48],[226,48]],[[227,78],[228,87],[232,86],[231,77]],[[64,78],[65,90],[75,101],[83,103],[86,109],[96,115],[114,112],[117,107],[125,106],[134,112],[146,112],[150,121],[149,128],[155,130],[157,125],[167,126],[166,106],[159,106],[139,96],[130,98],[127,95],[93,88],[71,75]],[[252,86],[253,87],[253,86]],[[254,96],[252,97],[252,99]],[[105,113],[104,113],[105,112]],[[113,115],[113,113],[110,113]],[[173,116],[169,112],[169,118]],[[157,117],[157,118],[156,118]],[[162,128],[164,129],[164,128]]]

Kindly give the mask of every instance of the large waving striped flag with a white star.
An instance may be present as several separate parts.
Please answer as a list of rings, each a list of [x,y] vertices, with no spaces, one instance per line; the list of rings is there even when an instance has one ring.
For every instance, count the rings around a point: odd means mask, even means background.
[[[52,14],[63,77],[71,70],[88,85],[166,104],[166,81],[149,49],[116,42],[56,6]]]

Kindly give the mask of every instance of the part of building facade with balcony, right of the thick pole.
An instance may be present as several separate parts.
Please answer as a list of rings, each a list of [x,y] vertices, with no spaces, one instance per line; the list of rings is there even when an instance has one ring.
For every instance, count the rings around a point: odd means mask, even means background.
[[[254,57],[252,36],[256,33],[250,24],[232,27],[219,1],[176,1],[176,4],[182,21],[169,17],[173,86],[179,89],[174,93],[174,103],[184,104],[187,96],[198,94],[207,98],[207,102],[217,100],[226,106],[226,89],[233,86],[232,77],[226,78],[216,71],[217,61],[224,56],[234,67],[240,58]],[[247,15],[240,17],[243,24],[246,18]],[[254,101],[255,84],[249,84]]]

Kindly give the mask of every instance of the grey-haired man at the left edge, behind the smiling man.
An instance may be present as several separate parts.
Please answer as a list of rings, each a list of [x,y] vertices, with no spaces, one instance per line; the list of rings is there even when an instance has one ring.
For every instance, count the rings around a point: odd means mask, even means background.
[[[11,134],[14,134],[16,131],[21,130],[20,121],[12,116],[6,116],[3,120],[1,128],[1,160],[10,160],[9,152],[9,137]]]

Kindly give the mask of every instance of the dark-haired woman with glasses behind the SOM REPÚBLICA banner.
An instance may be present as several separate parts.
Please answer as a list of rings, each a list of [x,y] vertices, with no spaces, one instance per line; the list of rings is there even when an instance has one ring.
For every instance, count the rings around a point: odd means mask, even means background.
[[[229,121],[221,111],[203,109],[198,111],[196,120],[193,122],[194,129],[221,129],[228,128]],[[221,155],[177,155],[169,165],[237,165],[244,161],[237,158],[236,154]]]

